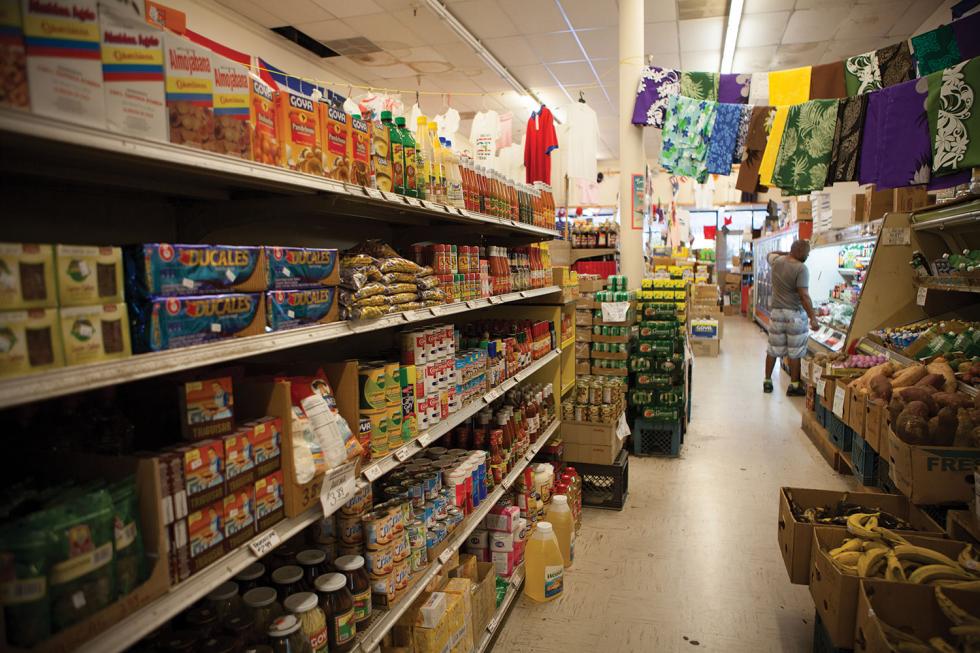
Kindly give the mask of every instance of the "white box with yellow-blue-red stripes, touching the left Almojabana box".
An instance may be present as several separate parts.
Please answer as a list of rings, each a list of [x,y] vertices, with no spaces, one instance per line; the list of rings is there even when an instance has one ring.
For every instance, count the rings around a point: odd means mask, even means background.
[[[102,83],[109,131],[167,140],[163,32],[102,6]]]

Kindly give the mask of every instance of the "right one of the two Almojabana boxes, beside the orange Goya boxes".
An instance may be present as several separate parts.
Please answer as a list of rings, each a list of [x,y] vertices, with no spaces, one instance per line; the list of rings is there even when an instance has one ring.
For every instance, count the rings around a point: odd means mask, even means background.
[[[241,159],[251,156],[249,89],[252,84],[244,66],[212,54],[214,71],[214,151]]]

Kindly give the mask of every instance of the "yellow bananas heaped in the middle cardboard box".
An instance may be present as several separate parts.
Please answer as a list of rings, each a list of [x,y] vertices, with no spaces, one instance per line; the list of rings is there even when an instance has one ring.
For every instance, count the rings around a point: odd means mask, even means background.
[[[901,535],[879,526],[877,513],[851,515],[847,530],[854,537],[827,552],[841,573],[903,583],[970,583],[980,589],[980,561],[969,544],[953,560],[938,551],[909,544]]]

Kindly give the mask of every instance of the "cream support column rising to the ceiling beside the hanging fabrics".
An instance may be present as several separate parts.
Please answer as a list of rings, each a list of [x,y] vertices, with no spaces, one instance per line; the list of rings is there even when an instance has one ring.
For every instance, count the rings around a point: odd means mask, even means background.
[[[643,279],[643,195],[646,156],[643,128],[635,126],[633,102],[643,68],[643,0],[619,0],[619,261],[630,288]],[[634,187],[639,175],[639,188]],[[639,193],[635,193],[639,190]],[[637,195],[634,212],[634,195]]]

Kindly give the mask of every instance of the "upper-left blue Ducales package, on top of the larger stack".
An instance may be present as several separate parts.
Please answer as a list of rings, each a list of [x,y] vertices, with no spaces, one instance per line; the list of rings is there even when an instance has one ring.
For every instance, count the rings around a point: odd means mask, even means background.
[[[268,284],[262,248],[230,245],[127,247],[126,276],[137,296],[259,292]]]

